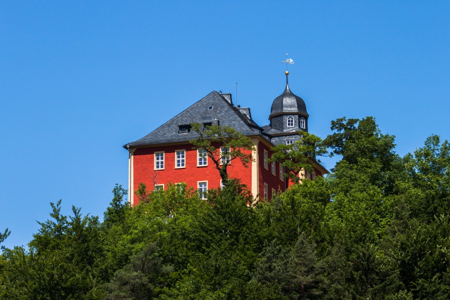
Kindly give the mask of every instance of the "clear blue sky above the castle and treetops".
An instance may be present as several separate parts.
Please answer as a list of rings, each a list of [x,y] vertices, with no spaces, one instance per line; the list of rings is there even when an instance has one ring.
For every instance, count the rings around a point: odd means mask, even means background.
[[[138,139],[212,90],[265,125],[289,86],[325,137],[374,116],[400,155],[450,138],[449,1],[1,1],[0,230],[99,215]],[[234,96],[234,95],[233,95]],[[331,168],[333,160],[324,160]]]

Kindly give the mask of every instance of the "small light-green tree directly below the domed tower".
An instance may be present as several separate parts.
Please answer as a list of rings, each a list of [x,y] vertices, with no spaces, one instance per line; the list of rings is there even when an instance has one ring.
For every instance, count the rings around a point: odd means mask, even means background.
[[[312,171],[316,160],[316,155],[326,154],[326,147],[322,144],[322,139],[312,133],[299,131],[300,140],[290,145],[279,144],[271,148],[273,154],[269,161],[278,161],[285,168],[284,175],[298,182],[298,173],[301,170]]]

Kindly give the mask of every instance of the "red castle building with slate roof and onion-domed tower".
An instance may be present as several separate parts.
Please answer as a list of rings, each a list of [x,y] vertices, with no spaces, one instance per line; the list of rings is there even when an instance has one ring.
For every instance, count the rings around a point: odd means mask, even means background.
[[[199,190],[201,196],[209,188],[220,188],[221,177],[214,163],[204,157],[202,150],[192,149],[189,140],[198,137],[190,130],[191,123],[233,127],[248,136],[253,145],[253,160],[244,166],[238,159],[227,166],[229,177],[239,178],[254,197],[270,199],[278,190],[284,191],[290,184],[283,176],[279,162],[268,162],[271,147],[291,144],[299,140],[298,131],[308,130],[306,105],[293,94],[287,82],[282,94],[277,96],[270,109],[269,121],[259,126],[251,118],[249,107],[235,106],[231,94],[212,91],[193,103],[144,137],[123,145],[128,150],[129,201],[136,205],[134,195],[139,183],[148,189],[166,189],[169,183],[185,182]],[[249,153],[250,151],[248,151]],[[305,174],[310,179],[328,171],[319,163],[314,171]]]

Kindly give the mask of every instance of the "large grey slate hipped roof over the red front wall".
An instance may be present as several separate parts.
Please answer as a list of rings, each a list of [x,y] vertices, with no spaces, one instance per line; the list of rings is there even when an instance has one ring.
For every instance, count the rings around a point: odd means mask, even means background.
[[[195,122],[214,123],[216,120],[219,125],[233,127],[245,135],[259,134],[270,140],[268,136],[261,134],[262,128],[247,114],[242,113],[229,102],[229,99],[214,90],[144,137],[127,143],[123,147],[189,141],[196,138],[198,134],[192,130],[187,133],[178,133],[180,125]]]

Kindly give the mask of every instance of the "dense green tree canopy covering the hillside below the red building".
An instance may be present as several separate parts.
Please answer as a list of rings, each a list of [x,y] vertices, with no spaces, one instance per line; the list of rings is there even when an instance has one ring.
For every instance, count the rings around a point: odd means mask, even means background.
[[[450,144],[400,157],[371,117],[331,130],[332,173],[270,201],[229,180],[206,200],[141,185],[135,207],[116,185],[103,221],[50,203],[27,247],[2,250],[0,298],[450,298]]]

